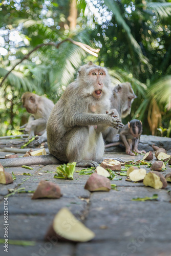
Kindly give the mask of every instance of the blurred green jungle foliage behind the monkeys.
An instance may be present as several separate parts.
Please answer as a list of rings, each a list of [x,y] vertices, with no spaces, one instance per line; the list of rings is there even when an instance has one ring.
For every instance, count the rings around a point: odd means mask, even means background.
[[[0,136],[19,134],[27,122],[24,92],[56,103],[92,60],[109,68],[113,84],[132,84],[137,98],[123,123],[140,119],[143,134],[170,137],[170,30],[171,0],[0,1]],[[98,57],[71,41],[46,45],[66,38],[100,49]]]

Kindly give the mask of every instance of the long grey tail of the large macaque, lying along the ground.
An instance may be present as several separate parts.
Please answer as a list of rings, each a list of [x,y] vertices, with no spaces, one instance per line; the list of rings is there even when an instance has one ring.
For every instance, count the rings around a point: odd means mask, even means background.
[[[35,156],[35,157],[19,157],[19,158],[7,158],[0,159],[0,163],[3,167],[15,167],[22,165],[36,165],[36,164],[61,164],[56,157],[52,155],[47,156]]]

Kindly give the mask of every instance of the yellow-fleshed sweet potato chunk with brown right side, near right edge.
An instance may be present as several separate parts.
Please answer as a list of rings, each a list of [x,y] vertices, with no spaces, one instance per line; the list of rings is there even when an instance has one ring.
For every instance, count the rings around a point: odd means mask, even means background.
[[[167,181],[161,173],[154,170],[145,176],[143,184],[145,186],[154,187],[155,189],[160,189],[167,186]]]

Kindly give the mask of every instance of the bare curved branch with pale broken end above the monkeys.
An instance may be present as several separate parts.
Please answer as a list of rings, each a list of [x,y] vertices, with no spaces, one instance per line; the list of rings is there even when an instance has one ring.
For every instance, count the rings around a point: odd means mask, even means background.
[[[13,71],[15,69],[15,67],[17,65],[19,65],[20,63],[22,63],[25,59],[28,59],[30,57],[30,55],[35,52],[37,49],[41,48],[42,46],[55,46],[57,49],[59,48],[59,46],[63,43],[63,42],[66,42],[66,41],[70,41],[72,42],[72,44],[76,45],[76,46],[79,46],[80,48],[82,48],[84,51],[90,53],[91,55],[95,56],[95,57],[98,57],[98,54],[96,52],[99,52],[100,49],[93,49],[91,48],[89,45],[85,45],[85,44],[82,44],[82,42],[77,42],[77,41],[74,41],[73,39],[71,38],[66,38],[65,40],[62,40],[61,42],[58,42],[56,44],[56,42],[47,42],[47,44],[40,44],[40,45],[37,45],[33,50],[31,50],[27,55],[24,56],[23,59],[21,59],[18,63],[15,64],[15,66],[9,70],[7,72],[7,74],[4,76],[3,80],[1,81],[0,83],[0,87],[2,87],[5,79],[7,78],[7,76],[11,73],[11,71]]]

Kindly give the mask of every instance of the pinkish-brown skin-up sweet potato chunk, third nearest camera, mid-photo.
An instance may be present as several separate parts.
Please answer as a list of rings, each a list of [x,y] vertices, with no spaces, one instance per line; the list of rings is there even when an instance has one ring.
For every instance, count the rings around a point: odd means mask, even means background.
[[[111,182],[108,178],[94,173],[87,180],[84,188],[89,191],[109,191],[111,189]]]

